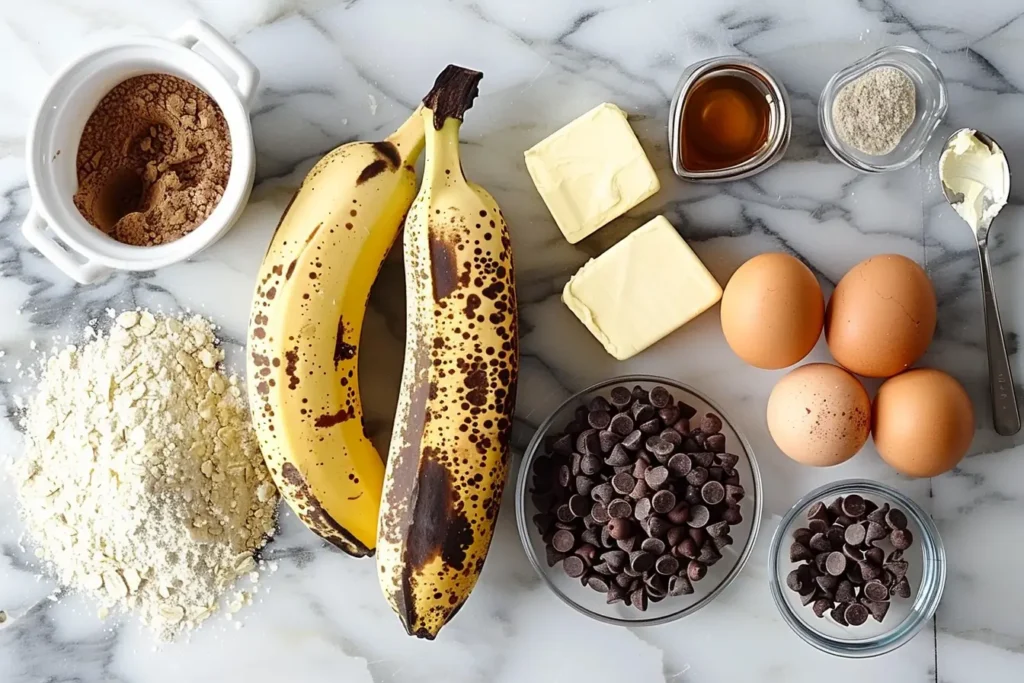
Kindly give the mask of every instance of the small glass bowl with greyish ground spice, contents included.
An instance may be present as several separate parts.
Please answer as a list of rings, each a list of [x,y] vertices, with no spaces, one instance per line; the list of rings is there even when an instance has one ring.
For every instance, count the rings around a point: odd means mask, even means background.
[[[935,62],[912,47],[884,47],[838,72],[818,103],[825,145],[864,173],[913,163],[946,114],[946,86]]]

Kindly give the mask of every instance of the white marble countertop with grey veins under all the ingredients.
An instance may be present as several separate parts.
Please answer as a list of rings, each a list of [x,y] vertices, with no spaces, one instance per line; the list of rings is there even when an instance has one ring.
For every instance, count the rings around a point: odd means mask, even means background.
[[[232,232],[194,261],[155,273],[76,287],[20,238],[29,201],[24,143],[49,75],[90,41],[163,33],[191,16],[214,24],[262,72],[253,112],[257,187]],[[700,387],[754,444],[765,483],[754,556],[712,606],[672,625],[625,630],[581,616],[535,575],[515,531],[512,496],[482,579],[435,642],[404,636],[379,594],[373,563],[327,549],[289,513],[267,549],[280,563],[243,628],[217,618],[189,642],[154,648],[130,618],[99,621],[81,598],[53,601],[37,577],[10,482],[0,478],[0,681],[777,681],[990,683],[1024,678],[1024,590],[1018,562],[1024,524],[1024,435],[989,426],[978,267],[971,236],[942,201],[936,143],[901,172],[859,175],[824,147],[818,93],[838,69],[879,46],[925,50],[945,74],[944,137],[973,126],[1024,168],[1024,15],[1010,0],[34,0],[0,3],[0,458],[16,455],[17,364],[31,347],[72,334],[113,306],[189,307],[223,326],[236,351],[245,338],[252,279],[289,196],[323,153],[378,139],[404,118],[450,61],[484,73],[464,127],[468,174],[508,217],[522,303],[522,375],[515,442],[524,444],[569,392],[628,372]],[[784,81],[796,117],[785,160],[751,180],[686,184],[671,172],[668,103],[689,62],[741,51]],[[594,238],[568,245],[537,196],[522,151],[602,100],[631,114],[663,189]],[[1017,353],[1024,327],[1021,252],[1024,195],[994,227],[993,259]],[[589,257],[665,213],[721,282],[764,251],[799,254],[826,293],[854,263],[899,252],[926,265],[939,326],[925,362],[961,379],[978,407],[972,455],[952,473],[910,481],[868,445],[829,470],[802,468],[772,444],[763,411],[780,373],[743,366],[722,340],[717,312],[627,361],[616,362],[559,301]],[[403,334],[400,260],[383,271],[364,332],[377,349],[364,385],[372,431],[386,439]],[[823,344],[812,357],[825,358]],[[234,357],[238,357],[236,352]],[[870,660],[829,658],[800,641],[769,596],[767,548],[782,513],[822,482],[866,476],[898,486],[930,510],[949,560],[938,616],[902,649]],[[1015,483],[1016,482],[1016,483]],[[509,489],[511,490],[511,488]],[[589,653],[589,656],[582,656]]]

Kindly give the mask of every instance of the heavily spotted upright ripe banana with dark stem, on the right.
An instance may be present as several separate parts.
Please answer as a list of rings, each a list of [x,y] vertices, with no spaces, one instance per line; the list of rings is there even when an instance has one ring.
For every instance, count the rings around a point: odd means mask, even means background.
[[[406,219],[406,362],[377,566],[406,630],[428,639],[483,567],[519,369],[508,228],[459,159],[459,127],[480,77],[449,67],[424,99],[424,181]]]

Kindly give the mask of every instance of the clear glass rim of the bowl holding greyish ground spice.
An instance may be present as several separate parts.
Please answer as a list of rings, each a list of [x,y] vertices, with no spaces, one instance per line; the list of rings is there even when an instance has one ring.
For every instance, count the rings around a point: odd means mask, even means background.
[[[851,157],[847,154],[844,145],[839,142],[828,113],[830,110],[829,104],[839,93],[837,85],[840,81],[849,80],[849,78],[854,74],[866,73],[867,68],[870,67],[870,65],[890,55],[898,55],[899,59],[905,59],[906,55],[909,55],[910,57],[919,59],[922,62],[925,69],[935,78],[935,82],[938,84],[939,105],[933,114],[934,122],[931,130],[928,131],[928,134],[925,136],[924,142],[920,145],[920,148],[913,152],[913,154],[910,154],[905,159],[893,164],[868,164]],[[910,47],[909,45],[887,45],[833,74],[831,78],[828,79],[825,86],[821,89],[821,95],[818,97],[818,129],[821,133],[822,139],[824,140],[825,146],[828,147],[828,151],[831,152],[836,159],[846,166],[854,169],[855,171],[860,171],[861,173],[888,173],[889,171],[898,171],[905,168],[921,158],[921,155],[923,155],[925,150],[928,148],[928,144],[935,135],[935,131],[938,130],[939,125],[945,118],[948,106],[949,94],[946,89],[945,77],[942,76],[942,72],[939,71],[935,61],[915,47]]]

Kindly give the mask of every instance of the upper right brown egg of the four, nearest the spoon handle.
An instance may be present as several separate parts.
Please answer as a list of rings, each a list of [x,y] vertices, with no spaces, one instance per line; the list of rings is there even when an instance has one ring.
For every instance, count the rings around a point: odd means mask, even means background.
[[[825,311],[833,357],[864,377],[892,377],[924,355],[935,334],[935,290],[920,265],[872,256],[839,281]]]

